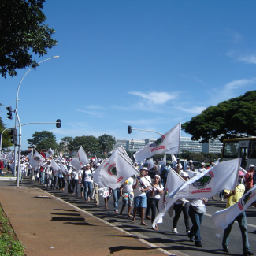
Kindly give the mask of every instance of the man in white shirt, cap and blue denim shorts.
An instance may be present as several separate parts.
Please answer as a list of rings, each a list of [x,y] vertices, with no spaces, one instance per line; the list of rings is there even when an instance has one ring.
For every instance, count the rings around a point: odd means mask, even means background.
[[[148,180],[145,178],[147,172],[146,167],[140,169],[140,175],[133,182],[133,191],[134,191],[134,209],[133,209],[133,218],[132,222],[135,223],[135,217],[138,208],[140,208],[140,220],[141,224],[147,226],[144,222],[145,209],[147,206],[146,192],[150,189]]]

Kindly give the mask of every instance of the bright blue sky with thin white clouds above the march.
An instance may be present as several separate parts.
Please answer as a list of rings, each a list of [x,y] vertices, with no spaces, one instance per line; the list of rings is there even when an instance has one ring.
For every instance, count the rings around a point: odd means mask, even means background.
[[[35,131],[158,138],[210,105],[255,90],[255,1],[46,1],[58,45],[19,92],[22,149]],[[2,105],[28,69],[1,78]],[[14,102],[10,104],[15,107]],[[5,106],[6,108],[6,106]],[[9,127],[14,121],[1,117]],[[182,132],[183,136],[190,136]]]

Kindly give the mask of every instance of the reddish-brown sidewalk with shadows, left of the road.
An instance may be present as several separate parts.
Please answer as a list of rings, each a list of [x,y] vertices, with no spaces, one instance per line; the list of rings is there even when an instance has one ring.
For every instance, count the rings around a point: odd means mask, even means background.
[[[166,255],[37,188],[0,187],[0,203],[27,256]]]

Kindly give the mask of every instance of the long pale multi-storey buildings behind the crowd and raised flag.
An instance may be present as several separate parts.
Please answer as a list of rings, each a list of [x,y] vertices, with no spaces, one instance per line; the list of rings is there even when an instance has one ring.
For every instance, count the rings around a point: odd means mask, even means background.
[[[154,143],[157,139],[143,139],[143,140],[125,140],[117,139],[117,143],[114,145],[116,148],[118,145],[122,145],[125,150],[137,151],[139,148],[147,145],[148,143]],[[133,149],[132,149],[133,143]],[[180,152],[189,151],[193,153],[221,153],[222,143],[216,139],[209,143],[199,143],[199,141],[193,141],[190,137],[180,137]]]

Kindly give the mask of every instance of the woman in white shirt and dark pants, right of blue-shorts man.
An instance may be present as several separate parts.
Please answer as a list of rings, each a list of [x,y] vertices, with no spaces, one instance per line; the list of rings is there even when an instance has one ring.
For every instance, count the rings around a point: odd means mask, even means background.
[[[151,215],[152,223],[154,221],[154,218],[156,217],[158,203],[159,203],[161,195],[163,194],[163,191],[164,191],[164,187],[162,186],[160,181],[161,181],[160,176],[158,174],[156,174],[154,176],[154,181],[153,181],[154,186],[152,186],[152,184],[150,185],[150,208],[151,208],[151,212],[152,212],[152,215]],[[154,229],[158,230],[158,225],[155,225]]]

